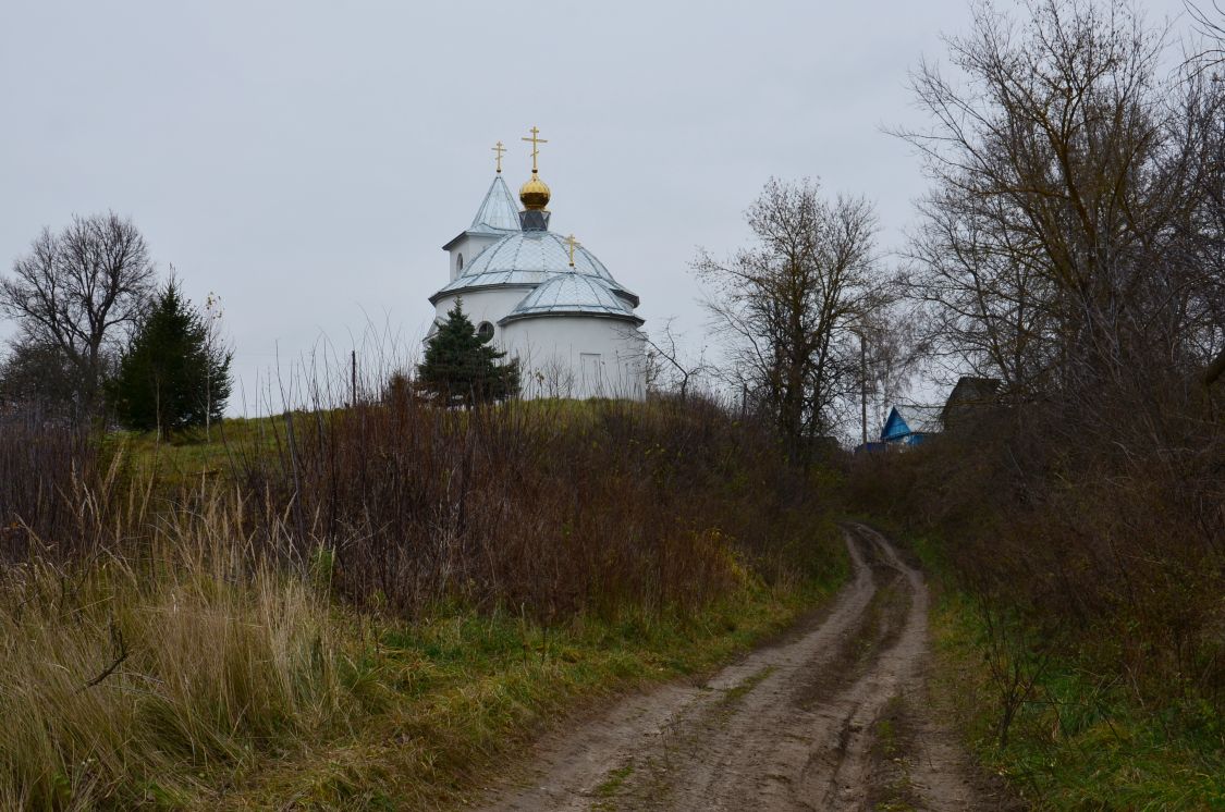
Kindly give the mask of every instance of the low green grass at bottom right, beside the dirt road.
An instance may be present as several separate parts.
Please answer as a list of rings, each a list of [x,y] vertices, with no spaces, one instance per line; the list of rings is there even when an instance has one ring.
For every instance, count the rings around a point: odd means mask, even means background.
[[[982,667],[985,631],[974,606],[946,594],[932,627],[970,745],[1039,808],[1225,808],[1225,726],[1205,704],[1142,707],[1125,686],[1063,656],[1038,680],[1001,747],[1001,705]]]

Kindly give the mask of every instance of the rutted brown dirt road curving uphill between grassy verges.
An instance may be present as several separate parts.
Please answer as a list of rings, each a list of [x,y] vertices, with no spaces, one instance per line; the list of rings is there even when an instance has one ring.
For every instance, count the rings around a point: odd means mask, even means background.
[[[1017,808],[929,704],[922,576],[870,528],[846,545],[854,581],[826,614],[546,739],[527,789],[488,808]]]

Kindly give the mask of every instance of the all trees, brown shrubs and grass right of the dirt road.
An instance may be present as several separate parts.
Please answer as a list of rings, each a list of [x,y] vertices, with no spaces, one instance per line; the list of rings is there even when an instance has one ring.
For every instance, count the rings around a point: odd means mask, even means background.
[[[979,753],[1050,808],[1225,805],[1221,27],[1183,61],[1140,11],[975,4],[915,71],[902,282],[978,392],[849,483],[938,576]]]

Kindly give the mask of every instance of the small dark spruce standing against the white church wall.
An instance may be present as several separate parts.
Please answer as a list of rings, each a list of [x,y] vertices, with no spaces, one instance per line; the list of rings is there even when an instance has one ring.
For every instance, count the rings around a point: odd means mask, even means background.
[[[519,363],[500,364],[506,353],[494,349],[491,338],[477,333],[457,299],[425,347],[425,360],[417,367],[418,385],[448,405],[470,407],[518,394]]]

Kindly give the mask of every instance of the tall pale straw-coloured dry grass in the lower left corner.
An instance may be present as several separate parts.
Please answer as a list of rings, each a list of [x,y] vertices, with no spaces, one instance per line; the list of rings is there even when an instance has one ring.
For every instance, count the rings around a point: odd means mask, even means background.
[[[327,595],[252,555],[240,500],[127,518],[138,545],[118,529],[86,558],[4,573],[4,808],[174,805],[343,712]]]

